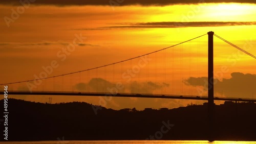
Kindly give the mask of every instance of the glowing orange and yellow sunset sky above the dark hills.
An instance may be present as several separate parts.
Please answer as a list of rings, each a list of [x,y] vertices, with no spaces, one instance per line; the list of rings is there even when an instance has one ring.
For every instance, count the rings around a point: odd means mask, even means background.
[[[256,55],[254,1],[26,2],[30,5],[21,6],[14,0],[0,2],[1,84],[33,80],[52,61],[58,67],[48,77],[137,57],[209,31]],[[124,86],[119,92],[207,95],[207,91],[198,91],[203,89],[207,77],[207,38],[205,35],[148,55],[150,61],[140,67],[140,73],[131,81],[122,75],[138,65],[140,58],[91,70],[90,74],[86,71],[50,79],[33,90],[106,91],[119,82]],[[63,49],[74,39],[74,50],[64,53]],[[256,98],[255,64],[254,58],[214,37],[214,70],[218,79],[215,96]],[[9,90],[28,90],[27,85],[9,85]],[[49,97],[53,103],[81,101],[102,105],[98,97],[9,95],[44,103]],[[113,98],[105,102],[102,106],[107,108],[140,110],[204,103],[141,98]]]

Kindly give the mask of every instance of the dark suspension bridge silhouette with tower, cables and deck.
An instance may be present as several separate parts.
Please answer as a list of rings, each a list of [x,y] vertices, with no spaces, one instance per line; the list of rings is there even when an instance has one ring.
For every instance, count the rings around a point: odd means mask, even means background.
[[[224,42],[230,44],[231,46],[235,47],[236,49],[242,51],[243,53],[253,57],[254,59],[256,59],[256,57],[248,52],[246,52],[245,50],[241,49],[240,47],[238,47],[237,45],[232,44],[231,42],[223,39],[222,37],[214,34],[214,32],[208,32],[208,97],[206,96],[201,96],[201,95],[183,95],[183,94],[149,94],[149,93],[136,93],[136,92],[131,92],[131,93],[123,93],[123,92],[116,92],[116,93],[108,93],[108,92],[90,92],[90,90],[88,90],[89,92],[84,92],[84,91],[49,91],[49,90],[31,90],[27,91],[27,90],[9,90],[8,94],[13,94],[13,95],[78,95],[78,96],[92,96],[92,97],[99,97],[99,96],[105,96],[105,97],[129,97],[129,98],[159,98],[159,99],[184,99],[184,100],[204,100],[204,101],[208,101],[208,117],[209,117],[209,140],[212,141],[214,140],[214,100],[218,100],[218,101],[236,101],[236,102],[256,102],[255,99],[244,99],[244,98],[224,98],[224,97],[214,97],[214,36],[216,36],[217,38],[223,40]],[[204,35],[207,35],[204,34]],[[164,49],[158,50],[158,51],[154,51],[151,53],[147,53],[138,57],[134,57],[134,58],[130,58],[130,59],[126,59],[126,60],[122,60],[119,62],[115,62],[112,64],[107,64],[107,65],[102,65],[102,66],[98,66],[98,67],[94,67],[94,68],[90,68],[90,69],[85,69],[85,70],[80,70],[80,71],[75,71],[73,73],[69,73],[69,74],[62,74],[62,75],[58,75],[58,76],[51,76],[51,77],[45,77],[45,78],[38,78],[38,79],[34,79],[34,80],[27,80],[27,81],[18,81],[18,82],[12,82],[12,83],[4,83],[4,84],[0,84],[0,86],[3,85],[12,85],[12,84],[20,84],[20,83],[30,83],[30,82],[38,82],[38,81],[42,81],[42,80],[47,80],[47,79],[53,79],[52,83],[53,83],[53,87],[55,85],[55,78],[60,77],[62,78],[61,83],[63,85],[63,77],[70,75],[71,76],[71,83],[73,82],[73,78],[72,76],[74,74],[81,74],[84,71],[88,72],[89,75],[89,71],[92,70],[96,70],[96,74],[98,75],[98,69],[99,68],[105,68],[107,66],[113,66],[113,79],[114,79],[114,74],[115,74],[115,64],[118,63],[123,63],[125,61],[132,61],[133,59],[137,59],[137,58],[141,58],[143,56],[148,56],[151,54],[156,54],[157,52],[160,51],[165,51],[166,49],[169,49],[170,47],[174,47],[177,45],[180,45],[182,43],[197,39],[199,37],[202,37],[204,35],[198,36],[196,38],[166,47]],[[157,64],[157,62],[155,62],[155,64]],[[156,66],[155,66],[156,67]],[[157,68],[156,68],[157,69]],[[156,70],[155,69],[155,70]],[[148,75],[148,70],[147,70],[147,75]],[[165,75],[164,75],[165,77]],[[81,77],[80,77],[81,80]]]

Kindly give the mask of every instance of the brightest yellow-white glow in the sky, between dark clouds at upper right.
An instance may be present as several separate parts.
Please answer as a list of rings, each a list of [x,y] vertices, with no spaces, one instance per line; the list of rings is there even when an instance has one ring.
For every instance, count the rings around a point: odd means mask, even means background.
[[[253,21],[252,4],[200,4],[165,6],[151,13],[147,21]],[[151,7],[151,9],[155,9]]]

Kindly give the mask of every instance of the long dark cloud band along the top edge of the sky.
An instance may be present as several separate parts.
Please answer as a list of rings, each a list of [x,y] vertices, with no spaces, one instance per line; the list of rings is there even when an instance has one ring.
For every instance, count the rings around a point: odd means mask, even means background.
[[[67,5],[95,5],[95,6],[106,6],[106,5],[114,5],[114,6],[129,6],[129,5],[141,5],[141,6],[166,6],[166,5],[177,5],[177,4],[198,4],[198,3],[251,3],[255,4],[254,0],[153,0],[153,1],[145,1],[145,0],[95,0],[95,1],[69,1],[69,0],[36,0],[34,5],[59,5],[59,6],[67,6]],[[0,4],[9,4],[9,5],[19,5],[19,0],[9,0],[9,1],[1,1]]]

